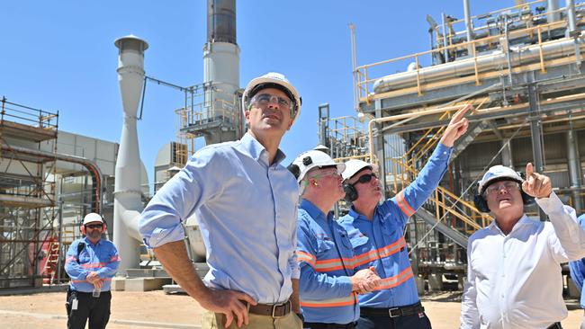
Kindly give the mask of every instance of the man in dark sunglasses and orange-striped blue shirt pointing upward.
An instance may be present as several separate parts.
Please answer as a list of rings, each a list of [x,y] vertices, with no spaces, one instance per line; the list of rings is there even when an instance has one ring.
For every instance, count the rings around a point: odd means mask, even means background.
[[[382,283],[359,298],[357,328],[430,328],[419,301],[403,232],[407,221],[428,200],[446,172],[457,138],[467,127],[466,106],[457,111],[417,179],[392,199],[383,198],[377,166],[349,160],[343,172],[349,213],[340,218],[356,254],[356,269],[374,267]]]

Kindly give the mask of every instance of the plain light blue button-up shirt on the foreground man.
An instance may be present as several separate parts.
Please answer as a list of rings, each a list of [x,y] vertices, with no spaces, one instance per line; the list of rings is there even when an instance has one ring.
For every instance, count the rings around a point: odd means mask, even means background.
[[[296,247],[299,186],[281,162],[250,134],[203,147],[157,191],[142,212],[139,232],[156,248],[184,238],[181,222],[199,222],[210,271],[208,287],[280,303],[299,278]]]

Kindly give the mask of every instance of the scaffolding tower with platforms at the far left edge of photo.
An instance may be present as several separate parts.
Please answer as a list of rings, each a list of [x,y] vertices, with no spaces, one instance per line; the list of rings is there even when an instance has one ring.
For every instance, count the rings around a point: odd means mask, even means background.
[[[55,167],[58,112],[2,99],[0,111],[0,289],[33,287],[47,268],[57,240]],[[52,158],[24,154],[16,147],[49,146]]]

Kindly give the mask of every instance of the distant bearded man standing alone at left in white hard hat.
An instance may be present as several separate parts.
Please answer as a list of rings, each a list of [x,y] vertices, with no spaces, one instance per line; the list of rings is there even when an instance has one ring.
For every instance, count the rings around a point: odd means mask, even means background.
[[[67,289],[67,328],[103,329],[110,320],[112,293],[110,284],[118,271],[118,250],[111,241],[102,239],[105,232],[102,216],[91,212],[81,225],[83,238],[67,250],[65,271],[71,279]]]

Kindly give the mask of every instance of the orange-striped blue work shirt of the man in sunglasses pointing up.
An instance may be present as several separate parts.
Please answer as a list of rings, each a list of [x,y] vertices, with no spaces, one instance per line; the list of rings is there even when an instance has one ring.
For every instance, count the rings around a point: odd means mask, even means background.
[[[403,232],[410,216],[437,188],[449,156],[451,148],[439,143],[417,179],[376,206],[373,220],[358,214],[353,207],[339,219],[356,253],[356,271],[374,266],[382,278],[376,290],[360,295],[360,307],[403,307],[419,301]]]

